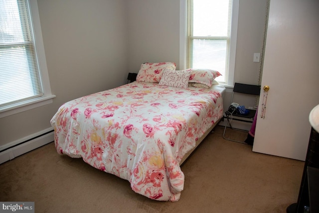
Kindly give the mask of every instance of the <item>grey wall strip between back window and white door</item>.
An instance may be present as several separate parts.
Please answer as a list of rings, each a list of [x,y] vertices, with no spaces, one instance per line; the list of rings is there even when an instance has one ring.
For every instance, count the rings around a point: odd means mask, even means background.
[[[258,84],[260,63],[254,52],[262,50],[267,0],[240,0],[234,82]]]

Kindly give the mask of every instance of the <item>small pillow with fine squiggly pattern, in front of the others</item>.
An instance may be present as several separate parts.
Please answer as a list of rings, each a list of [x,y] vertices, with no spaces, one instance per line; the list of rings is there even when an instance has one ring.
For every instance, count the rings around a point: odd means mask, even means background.
[[[160,86],[172,86],[186,89],[190,72],[185,70],[169,70],[165,69],[160,79]]]

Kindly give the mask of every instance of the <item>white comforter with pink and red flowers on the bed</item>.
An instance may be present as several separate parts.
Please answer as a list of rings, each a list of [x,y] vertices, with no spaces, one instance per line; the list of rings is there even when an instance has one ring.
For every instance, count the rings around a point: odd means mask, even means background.
[[[148,198],[178,201],[180,160],[222,114],[218,90],[135,81],[63,104],[51,125],[58,153],[128,180]]]

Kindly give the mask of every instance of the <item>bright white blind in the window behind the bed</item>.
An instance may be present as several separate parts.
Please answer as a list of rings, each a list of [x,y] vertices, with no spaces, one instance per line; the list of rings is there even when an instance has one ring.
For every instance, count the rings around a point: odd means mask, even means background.
[[[227,83],[232,0],[187,0],[186,68],[219,71]]]

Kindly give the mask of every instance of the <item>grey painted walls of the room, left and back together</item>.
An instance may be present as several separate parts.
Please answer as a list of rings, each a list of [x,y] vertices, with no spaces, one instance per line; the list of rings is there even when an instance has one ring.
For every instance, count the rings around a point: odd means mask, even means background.
[[[267,0],[240,0],[235,82],[257,83]],[[38,0],[53,103],[0,119],[0,146],[50,128],[68,100],[114,88],[143,62],[179,67],[179,0]],[[229,96],[226,95],[225,106]]]

